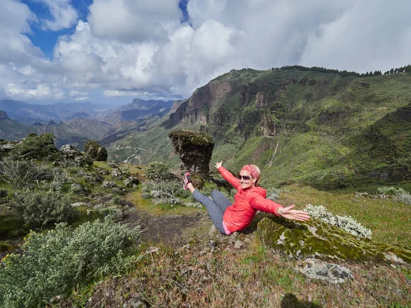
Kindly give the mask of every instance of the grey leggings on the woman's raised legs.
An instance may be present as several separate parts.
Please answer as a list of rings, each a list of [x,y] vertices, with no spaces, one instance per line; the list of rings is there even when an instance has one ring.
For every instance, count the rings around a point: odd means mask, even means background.
[[[210,215],[210,218],[216,228],[219,229],[219,231],[224,235],[227,235],[223,227],[223,215],[225,209],[232,205],[231,201],[229,201],[229,198],[224,196],[218,190],[212,191],[212,200],[201,194],[201,192],[199,192],[198,190],[195,190],[192,193],[192,196],[195,198],[195,200],[199,201],[199,203],[206,207],[208,214]]]

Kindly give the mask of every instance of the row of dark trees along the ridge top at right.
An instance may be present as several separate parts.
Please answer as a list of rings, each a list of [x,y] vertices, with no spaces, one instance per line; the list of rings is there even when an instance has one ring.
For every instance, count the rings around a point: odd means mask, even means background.
[[[306,66],[301,66],[301,65],[286,65],[282,67],[272,67],[270,70],[291,70],[293,68],[297,68],[297,70],[303,70],[303,71],[308,71],[312,70],[315,72],[321,72],[321,73],[334,73],[338,74],[341,77],[348,77],[348,76],[356,76],[356,77],[369,77],[369,76],[378,76],[378,75],[383,75],[381,73],[381,70],[375,70],[374,72],[366,72],[366,73],[357,73],[354,71],[347,71],[347,70],[332,70],[329,68],[323,68],[319,66],[312,66],[312,67],[306,67]],[[411,65],[408,64],[407,66],[401,66],[399,68],[391,68],[390,70],[387,70],[384,75],[387,74],[395,74],[395,73],[411,73]]]

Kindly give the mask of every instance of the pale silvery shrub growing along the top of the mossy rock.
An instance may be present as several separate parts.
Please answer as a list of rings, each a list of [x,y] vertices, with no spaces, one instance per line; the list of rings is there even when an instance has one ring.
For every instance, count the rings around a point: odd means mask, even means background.
[[[351,216],[338,216],[330,213],[323,207],[323,205],[306,205],[306,208],[303,209],[306,211],[312,218],[322,220],[328,224],[332,224],[341,229],[345,229],[349,233],[362,236],[363,238],[371,238],[371,230],[363,227],[359,222],[353,220]]]

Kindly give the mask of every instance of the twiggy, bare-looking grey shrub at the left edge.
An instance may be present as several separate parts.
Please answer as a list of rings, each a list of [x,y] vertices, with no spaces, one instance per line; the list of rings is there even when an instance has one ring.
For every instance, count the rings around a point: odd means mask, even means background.
[[[15,188],[21,188],[34,181],[50,179],[51,172],[45,166],[33,162],[3,159],[0,161],[0,179],[10,183]]]

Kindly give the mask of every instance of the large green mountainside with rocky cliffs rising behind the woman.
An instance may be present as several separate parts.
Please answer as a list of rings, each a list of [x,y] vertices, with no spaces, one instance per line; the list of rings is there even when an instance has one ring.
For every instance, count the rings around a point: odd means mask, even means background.
[[[409,73],[341,77],[295,68],[232,70],[197,89],[185,110],[177,110],[177,125],[134,132],[110,150],[113,157],[134,151],[140,164],[162,159],[178,166],[166,135],[185,128],[212,135],[213,162],[223,159],[232,170],[258,164],[263,185],[299,181],[332,190],[406,184],[410,83]]]

